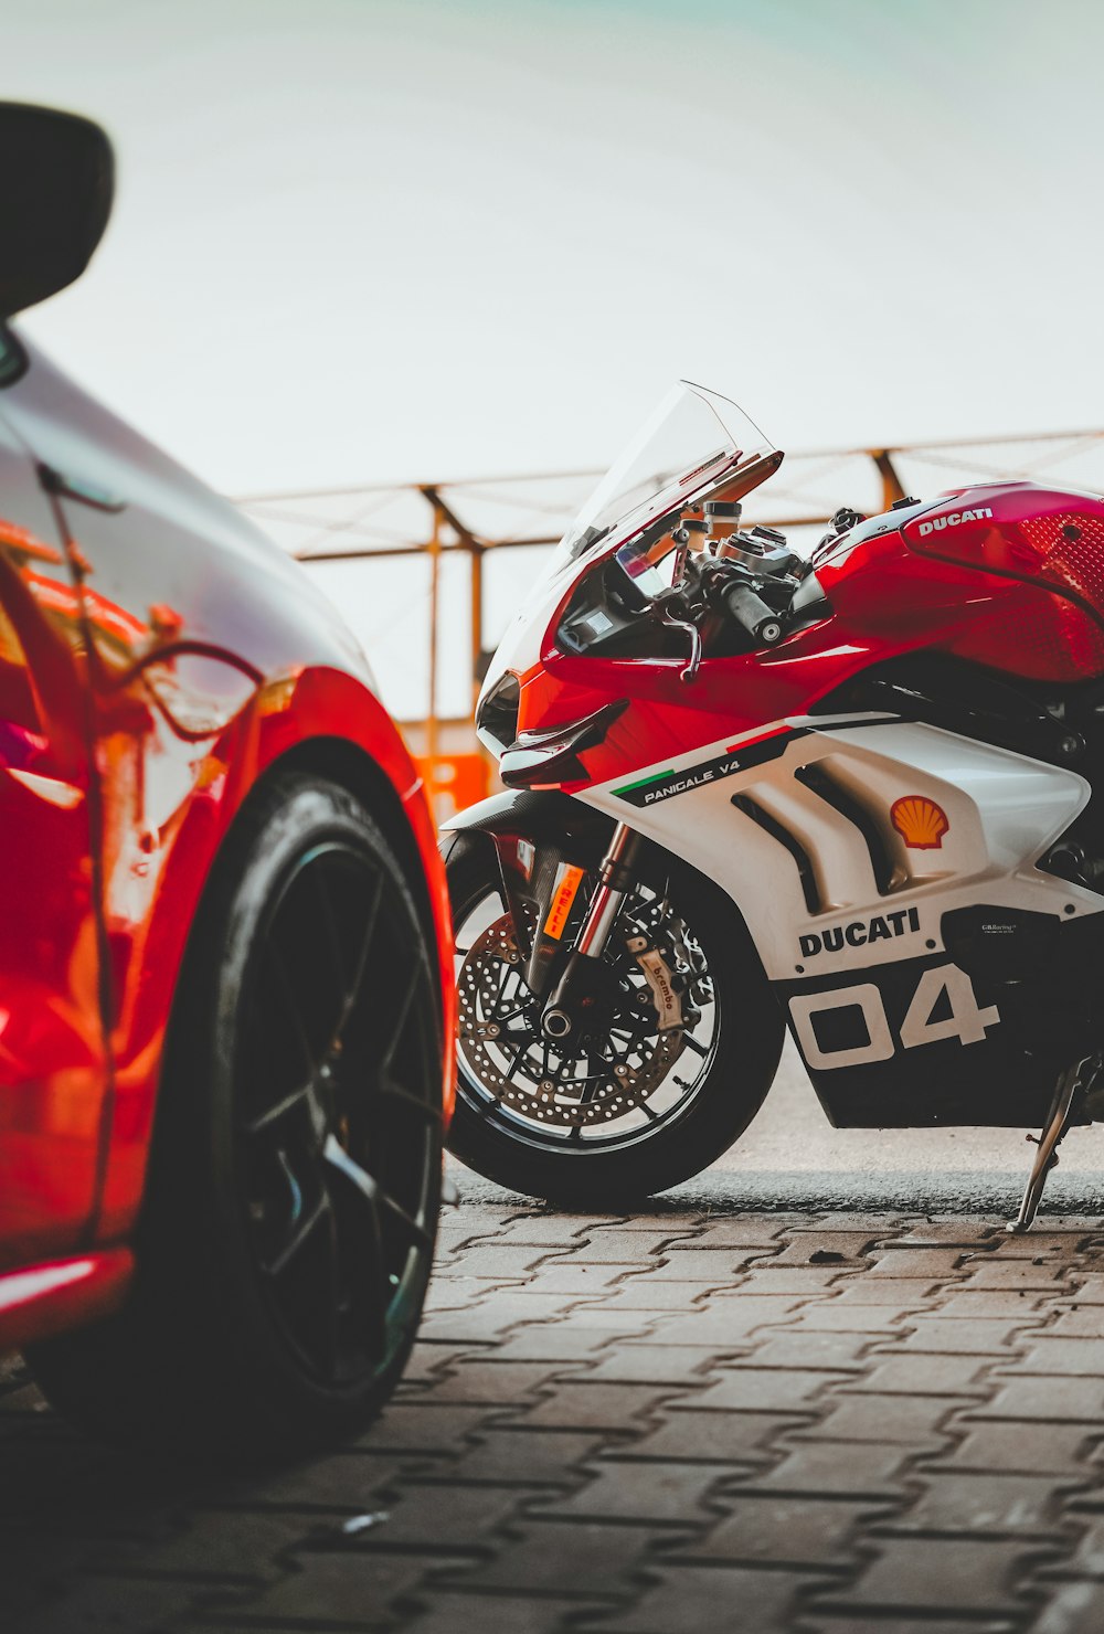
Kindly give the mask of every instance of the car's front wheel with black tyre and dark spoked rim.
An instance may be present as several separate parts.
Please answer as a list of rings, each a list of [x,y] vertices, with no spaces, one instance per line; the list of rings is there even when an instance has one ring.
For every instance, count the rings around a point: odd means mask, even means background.
[[[426,936],[379,827],[333,783],[273,776],[189,938],[132,1296],[33,1348],[51,1402],[219,1459],[364,1425],[430,1278],[441,1049]]]

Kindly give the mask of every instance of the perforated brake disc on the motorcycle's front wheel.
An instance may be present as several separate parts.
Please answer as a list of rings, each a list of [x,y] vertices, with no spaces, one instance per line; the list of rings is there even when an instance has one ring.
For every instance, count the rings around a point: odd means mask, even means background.
[[[457,975],[459,1054],[467,1072],[503,1106],[537,1123],[583,1127],[624,1118],[663,1082],[683,1051],[683,1029],[648,1031],[655,1007],[632,959],[617,959],[625,1002],[601,1041],[563,1054],[541,1034],[544,1008],[521,974],[513,920],[479,936]],[[634,980],[635,977],[635,980]],[[583,1067],[583,1062],[586,1064]]]

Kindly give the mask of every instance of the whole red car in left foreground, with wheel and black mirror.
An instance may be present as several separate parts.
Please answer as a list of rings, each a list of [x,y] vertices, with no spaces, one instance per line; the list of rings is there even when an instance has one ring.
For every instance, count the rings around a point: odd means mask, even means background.
[[[96,126],[0,106],[0,1351],[114,1438],[279,1453],[413,1340],[449,912],[328,603],[8,327],[111,178]]]

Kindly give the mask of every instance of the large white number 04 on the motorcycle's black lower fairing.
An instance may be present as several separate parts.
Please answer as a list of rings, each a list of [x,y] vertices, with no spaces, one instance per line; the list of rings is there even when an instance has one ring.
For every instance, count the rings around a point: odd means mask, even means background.
[[[949,1015],[934,1021],[939,1002],[947,998]],[[825,1049],[817,1039],[813,1018],[833,1010],[861,1010],[866,1026],[866,1042],[843,1049]],[[897,1054],[882,993],[874,982],[856,987],[838,987],[830,993],[802,993],[790,998],[794,1031],[802,1054],[810,1067],[861,1067],[872,1060],[888,1060]],[[913,1002],[901,1021],[901,1047],[918,1049],[921,1044],[937,1044],[944,1038],[957,1038],[960,1044],[982,1044],[985,1029],[999,1021],[996,1005],[983,1010],[973,997],[973,984],[957,964],[942,964],[924,971],[913,993]]]

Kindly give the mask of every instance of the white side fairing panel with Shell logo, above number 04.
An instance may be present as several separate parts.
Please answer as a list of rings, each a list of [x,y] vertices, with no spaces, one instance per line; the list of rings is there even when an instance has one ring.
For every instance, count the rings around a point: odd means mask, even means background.
[[[722,740],[578,799],[717,881],[771,980],[931,958],[944,949],[942,915],[978,902],[1063,918],[1104,910],[1094,892],[1034,866],[1089,799],[1075,771],[877,716],[800,717],[763,739]],[[797,776],[805,768],[821,792]],[[825,788],[841,791],[849,815]],[[910,797],[946,822],[923,843],[893,824]]]

